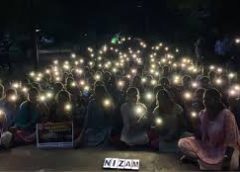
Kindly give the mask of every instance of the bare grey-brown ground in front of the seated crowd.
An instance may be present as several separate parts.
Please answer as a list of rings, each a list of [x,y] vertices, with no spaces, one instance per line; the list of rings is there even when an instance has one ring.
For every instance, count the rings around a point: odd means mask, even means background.
[[[86,148],[39,150],[31,145],[1,151],[0,171],[103,171],[102,164],[106,157],[140,159],[140,171],[192,171],[198,169],[193,164],[181,164],[172,154]]]

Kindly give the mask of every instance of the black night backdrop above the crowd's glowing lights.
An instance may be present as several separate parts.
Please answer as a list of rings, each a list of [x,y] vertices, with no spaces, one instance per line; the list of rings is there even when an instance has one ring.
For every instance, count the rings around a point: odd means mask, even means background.
[[[237,35],[235,0],[1,0],[0,35],[21,42],[31,26],[56,44],[81,44],[122,33],[182,46],[199,36]]]

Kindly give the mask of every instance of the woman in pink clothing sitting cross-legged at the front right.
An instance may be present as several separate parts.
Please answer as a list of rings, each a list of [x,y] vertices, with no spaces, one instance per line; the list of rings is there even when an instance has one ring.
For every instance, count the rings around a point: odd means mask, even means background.
[[[217,90],[207,90],[203,103],[195,136],[180,139],[178,146],[187,156],[197,158],[200,168],[220,170],[226,148],[239,148],[238,127]]]

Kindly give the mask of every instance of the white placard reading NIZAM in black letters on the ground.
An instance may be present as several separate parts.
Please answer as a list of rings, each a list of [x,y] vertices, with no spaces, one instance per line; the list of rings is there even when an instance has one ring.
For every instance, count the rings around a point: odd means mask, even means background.
[[[120,158],[105,158],[103,168],[106,169],[125,169],[125,170],[139,170],[139,159],[120,159]]]

